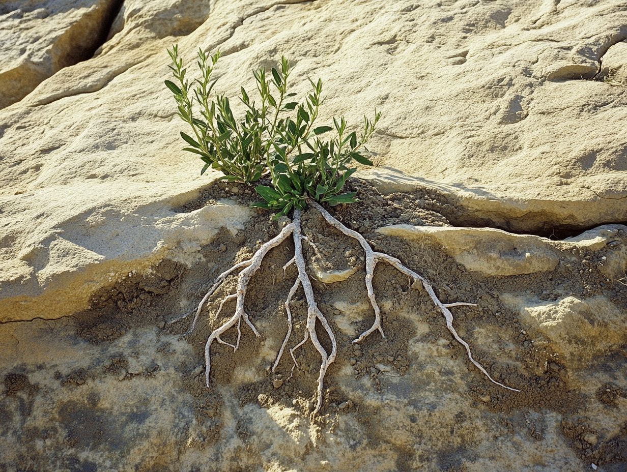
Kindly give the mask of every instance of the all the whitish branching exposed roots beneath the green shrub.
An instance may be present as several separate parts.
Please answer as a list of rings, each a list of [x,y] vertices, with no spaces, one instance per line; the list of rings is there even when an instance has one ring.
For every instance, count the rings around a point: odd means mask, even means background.
[[[357,231],[353,231],[352,229],[349,229],[346,226],[344,226],[344,224],[340,223],[340,221],[338,221],[333,216],[331,216],[331,214],[328,211],[326,211],[322,206],[320,206],[320,204],[318,204],[317,202],[309,201],[309,204],[315,209],[317,209],[317,211],[320,212],[320,214],[327,221],[327,223],[329,223],[335,229],[339,230],[341,233],[345,234],[346,236],[349,236],[350,238],[356,239],[357,242],[359,242],[359,244],[361,245],[362,249],[364,249],[364,253],[366,254],[366,277],[365,277],[366,291],[367,291],[368,299],[370,300],[370,304],[372,306],[372,310],[374,310],[374,323],[372,323],[372,326],[370,328],[368,328],[366,331],[361,333],[359,337],[353,340],[353,343],[361,342],[362,340],[364,340],[364,338],[368,337],[375,331],[378,331],[379,333],[381,333],[382,337],[385,337],[383,328],[381,326],[381,309],[379,308],[379,305],[377,304],[376,297],[374,295],[374,288],[372,287],[372,278],[374,277],[374,269],[376,268],[377,263],[385,262],[393,266],[394,268],[396,268],[396,270],[398,270],[402,274],[408,276],[408,278],[412,280],[414,283],[419,281],[422,284],[424,290],[426,291],[426,293],[428,293],[433,303],[436,305],[436,307],[440,309],[440,312],[444,315],[445,320],[446,320],[446,327],[448,328],[450,333],[453,335],[455,340],[457,340],[457,342],[459,342],[461,345],[463,345],[463,347],[465,347],[466,354],[468,355],[468,359],[470,359],[470,362],[472,362],[473,365],[477,367],[477,369],[479,369],[494,384],[500,385],[501,387],[514,391],[514,392],[519,392],[519,390],[517,389],[514,389],[512,387],[507,387],[507,385],[503,385],[500,382],[497,382],[496,380],[492,379],[492,377],[490,377],[490,374],[488,374],[487,370],[485,370],[481,364],[479,364],[475,359],[473,359],[472,353],[470,352],[470,346],[458,335],[455,328],[453,327],[453,314],[450,312],[449,308],[460,307],[460,306],[475,307],[477,306],[476,303],[467,303],[467,302],[442,303],[440,302],[440,299],[438,298],[438,296],[436,296],[435,291],[433,290],[431,285],[422,276],[418,275],[413,270],[410,270],[409,268],[404,266],[401,263],[401,261],[399,261],[398,259],[392,256],[389,256],[387,254],[374,251],[371,245],[366,241],[366,239],[361,234],[357,233]],[[290,349],[290,356],[292,357],[292,360],[293,360],[292,374],[290,374],[290,377],[292,377],[293,375],[293,370],[298,367],[298,363],[294,355],[295,350],[300,348],[308,340],[311,340],[312,344],[314,345],[315,349],[320,354],[320,358],[321,358],[320,370],[319,370],[319,375],[318,375],[318,380],[317,380],[317,384],[318,384],[317,402],[316,402],[315,409],[313,411],[313,414],[315,415],[320,410],[320,407],[322,406],[322,392],[324,390],[324,377],[327,373],[327,369],[329,369],[329,366],[334,362],[335,356],[337,355],[337,340],[335,339],[335,335],[329,325],[329,322],[327,321],[327,318],[325,318],[324,314],[320,312],[320,309],[318,308],[317,303],[315,302],[314,288],[312,287],[310,278],[307,275],[305,256],[303,256],[303,247],[302,247],[302,240],[306,238],[302,234],[301,217],[302,217],[302,212],[300,210],[295,210],[292,223],[287,224],[285,227],[283,227],[283,229],[280,231],[280,233],[277,236],[275,236],[274,238],[270,239],[270,241],[263,244],[256,251],[256,253],[253,255],[252,258],[234,265],[233,267],[229,268],[229,270],[224,271],[218,276],[214,285],[203,297],[203,300],[201,300],[201,302],[199,303],[192,325],[186,334],[191,333],[196,327],[196,322],[198,322],[198,318],[200,316],[201,310],[203,309],[204,304],[208,302],[211,295],[213,295],[213,293],[215,293],[215,291],[218,290],[219,286],[224,282],[224,280],[226,280],[226,278],[229,275],[241,269],[241,272],[238,275],[238,281],[237,281],[235,293],[231,293],[231,295],[226,296],[226,298],[224,298],[220,302],[219,307],[218,307],[218,312],[216,313],[216,317],[219,315],[219,313],[222,312],[224,304],[231,300],[236,300],[235,312],[231,318],[229,318],[226,322],[224,322],[223,325],[216,328],[211,333],[211,335],[209,335],[209,338],[207,339],[207,342],[205,344],[205,350],[204,350],[205,364],[206,364],[205,380],[206,380],[207,386],[209,387],[209,375],[211,374],[211,344],[213,344],[214,341],[217,341],[220,344],[228,345],[233,350],[237,350],[238,347],[240,346],[242,320],[246,323],[246,325],[248,325],[251,331],[255,333],[256,337],[260,336],[260,333],[255,328],[255,325],[253,325],[253,323],[250,321],[250,318],[248,317],[248,314],[245,312],[245,309],[244,309],[244,302],[246,298],[246,290],[248,288],[248,283],[250,283],[250,280],[253,277],[253,275],[256,273],[256,271],[260,269],[261,262],[263,261],[263,258],[266,256],[266,254],[268,254],[270,249],[275,248],[276,246],[281,244],[283,241],[285,241],[285,239],[287,239],[288,236],[292,235],[293,241],[294,241],[294,256],[290,261],[288,261],[287,264],[283,266],[283,278],[285,278],[285,270],[287,270],[287,268],[291,266],[292,264],[294,264],[297,268],[297,276],[296,276],[296,279],[294,281],[292,288],[290,289],[290,292],[288,293],[287,299],[285,300],[285,303],[284,303],[285,312],[287,313],[287,333],[285,335],[285,338],[283,339],[281,348],[278,351],[277,359],[275,360],[272,366],[272,372],[275,372],[275,370],[277,369],[278,364],[280,363],[283,357],[283,353],[285,352],[285,349],[289,344],[290,337],[293,331],[293,319],[292,319],[292,311],[290,309],[290,303],[292,302],[298,289],[302,288],[303,293],[305,294],[305,300],[307,302],[307,323],[305,325],[305,333],[303,334],[302,340],[300,340],[300,342],[298,342],[297,345],[295,345],[294,347],[292,347],[292,349]],[[186,313],[183,317],[179,317],[174,321],[177,321],[186,317],[189,313],[191,312]],[[322,328],[324,328],[325,333],[327,333],[327,336],[329,337],[329,341],[331,344],[330,352],[327,352],[327,350],[325,350],[322,344],[320,343],[320,340],[316,333],[317,323],[320,323]],[[223,335],[224,332],[228,331],[230,328],[234,326],[237,326],[238,336],[237,336],[237,340],[235,344],[231,344],[231,343],[224,341],[221,338],[221,335]]]

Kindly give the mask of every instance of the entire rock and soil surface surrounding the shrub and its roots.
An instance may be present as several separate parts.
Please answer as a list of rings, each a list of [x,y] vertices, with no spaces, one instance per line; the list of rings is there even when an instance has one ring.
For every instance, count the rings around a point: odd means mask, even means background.
[[[623,2],[29,0],[0,21],[0,469],[627,467],[627,236],[577,234],[627,221]],[[269,372],[283,246],[248,302],[263,338],[217,347],[204,387],[217,303],[189,338],[171,321],[277,226],[181,152],[173,43],[190,63],[222,51],[220,92],[286,55],[299,94],[324,80],[321,122],[382,111],[362,176],[383,195],[337,214],[444,302],[478,303],[456,327],[521,394],[387,267],[386,340],[352,344],[371,322],[361,253],[309,215],[309,269],[342,274],[315,286],[340,344],[322,416],[315,355]]]

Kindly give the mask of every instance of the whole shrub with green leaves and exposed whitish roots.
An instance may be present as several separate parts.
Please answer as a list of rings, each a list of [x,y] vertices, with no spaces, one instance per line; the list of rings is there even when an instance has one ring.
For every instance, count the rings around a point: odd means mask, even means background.
[[[308,241],[308,239],[303,236],[302,211],[309,205],[312,210],[319,212],[330,226],[345,236],[356,240],[364,251],[364,268],[366,271],[364,283],[367,298],[374,312],[374,322],[370,328],[353,340],[354,344],[361,342],[375,332],[379,332],[381,337],[385,337],[381,309],[376,301],[372,280],[377,263],[387,263],[396,268],[399,273],[419,283],[411,286],[421,285],[423,287],[444,316],[446,328],[453,335],[453,338],[466,349],[468,359],[473,365],[494,384],[510,391],[519,392],[518,389],[507,387],[507,385],[490,377],[487,370],[473,359],[470,346],[453,327],[453,313],[451,313],[450,308],[463,305],[476,306],[475,303],[441,302],[433,287],[423,276],[404,266],[397,258],[374,251],[364,236],[347,228],[319,204],[319,202],[326,202],[330,205],[336,205],[356,201],[355,192],[342,194],[342,189],[347,179],[356,170],[351,167],[353,161],[359,164],[372,165],[372,162],[364,154],[367,152],[366,143],[374,133],[381,113],[375,110],[374,118],[364,117],[364,128],[359,135],[355,131],[347,131],[344,117],[334,118],[333,127],[315,126],[314,123],[323,102],[322,81],[310,80],[312,91],[303,102],[288,101],[293,100],[295,94],[288,93],[290,64],[287,59],[282,58],[278,68],[271,68],[269,74],[265,70],[255,72],[256,88],[260,97],[259,106],[254,100],[251,100],[248,92],[243,87],[241,88],[239,98],[245,105],[245,113],[244,117],[238,120],[231,112],[227,97],[216,93],[214,98],[210,98],[216,85],[216,81],[211,80],[211,73],[219,60],[219,53],[209,57],[203,50],[198,51],[198,68],[201,72],[201,78],[193,80],[191,83],[186,78],[187,70],[179,57],[177,46],[173,46],[168,53],[172,59],[170,68],[178,83],[166,80],[166,86],[174,93],[179,116],[189,123],[196,137],[194,139],[194,137],[181,133],[182,139],[190,146],[185,147],[184,150],[198,154],[204,162],[201,174],[209,167],[213,167],[224,174],[222,179],[246,184],[257,182],[264,176],[269,177],[270,186],[256,186],[256,191],[263,198],[263,201],[258,202],[256,206],[273,210],[277,212],[277,216],[292,212],[292,221],[283,226],[277,236],[261,244],[249,260],[241,261],[221,273],[196,308],[194,320],[187,330],[188,334],[194,331],[203,307],[210,302],[211,296],[218,291],[226,278],[239,271],[236,289],[221,300],[215,318],[221,319],[219,314],[227,302],[235,303],[234,313],[212,330],[205,344],[205,381],[207,387],[211,381],[211,345],[214,341],[228,345],[234,351],[238,350],[242,322],[248,325],[256,337],[261,336],[245,311],[246,291],[249,283],[253,280],[253,276],[260,269],[266,254],[291,237],[294,256],[283,266],[283,276],[285,277],[285,271],[293,266],[295,281],[284,303],[287,315],[287,333],[278,350],[271,372],[276,372],[283,354],[289,352],[293,360],[290,377],[288,377],[288,380],[291,379],[292,375],[295,374],[294,370],[298,368],[294,356],[295,350],[310,342],[320,355],[317,399],[312,414],[315,415],[320,411],[324,396],[324,378],[329,366],[335,362],[338,346],[332,325],[318,307],[315,300],[314,285],[307,274],[303,240]],[[196,107],[200,109],[199,115],[194,112]],[[325,138],[333,131],[334,137]],[[290,269],[292,273],[294,269]],[[293,319],[290,303],[297,296],[297,292],[301,290],[307,303],[307,320],[302,340],[292,345],[290,344],[290,337],[293,331]],[[189,314],[191,311],[182,317],[177,317],[171,323],[178,322]],[[237,338],[234,344],[221,338],[223,333],[235,328]],[[329,338],[330,349],[325,349],[320,342],[319,332],[326,333]]]

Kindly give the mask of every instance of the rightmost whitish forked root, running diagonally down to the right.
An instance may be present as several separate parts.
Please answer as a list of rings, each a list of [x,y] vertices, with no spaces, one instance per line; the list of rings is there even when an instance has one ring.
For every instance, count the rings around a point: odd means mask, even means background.
[[[456,302],[456,303],[440,302],[440,299],[435,294],[435,291],[433,291],[433,287],[431,287],[431,284],[429,284],[429,282],[425,278],[423,278],[423,276],[418,275],[413,270],[404,266],[401,263],[401,261],[399,261],[397,258],[389,256],[388,254],[373,251],[370,244],[366,241],[366,238],[364,238],[364,236],[357,233],[357,231],[353,231],[352,229],[349,229],[346,226],[344,226],[344,224],[340,223],[340,221],[333,218],[333,216],[331,216],[331,214],[328,211],[326,211],[322,206],[320,206],[320,204],[318,204],[317,202],[310,200],[309,204],[313,206],[315,209],[317,209],[322,215],[322,218],[324,218],[327,221],[327,223],[329,223],[335,229],[338,229],[341,233],[344,233],[346,236],[349,236],[350,238],[357,239],[359,244],[361,244],[361,247],[364,249],[364,253],[366,253],[366,290],[367,290],[368,298],[371,302],[372,308],[374,309],[374,323],[372,324],[371,328],[364,331],[356,340],[354,340],[353,341],[354,343],[360,342],[361,340],[363,340],[364,338],[366,338],[368,335],[370,335],[372,332],[376,330],[379,330],[379,332],[383,336],[383,330],[381,328],[381,311],[379,310],[379,306],[377,305],[376,300],[374,298],[374,290],[372,288],[372,277],[374,275],[374,268],[379,261],[383,261],[393,266],[394,268],[396,268],[396,270],[403,273],[404,275],[409,276],[414,281],[420,281],[422,283],[424,290],[428,293],[433,303],[436,305],[436,307],[440,308],[440,312],[442,312],[442,314],[444,315],[445,320],[446,320],[446,328],[448,328],[449,332],[453,335],[455,340],[459,342],[461,345],[463,345],[463,347],[466,348],[466,354],[468,355],[468,359],[470,359],[470,362],[472,362],[475,365],[475,367],[477,367],[477,369],[479,369],[486,377],[488,377],[488,379],[490,379],[490,382],[492,382],[493,384],[497,384],[500,387],[503,387],[505,389],[508,389],[514,392],[520,392],[520,390],[514,389],[512,387],[508,387],[507,385],[503,385],[500,382],[497,382],[496,380],[494,380],[492,377],[490,377],[490,374],[488,374],[487,370],[485,370],[485,368],[481,364],[479,364],[475,359],[473,359],[472,353],[470,352],[470,346],[468,345],[468,343],[465,342],[465,340],[463,340],[460,337],[460,335],[458,335],[455,328],[453,327],[453,313],[451,313],[451,311],[448,308],[458,307],[460,305],[476,306],[475,304],[465,303],[465,302]]]

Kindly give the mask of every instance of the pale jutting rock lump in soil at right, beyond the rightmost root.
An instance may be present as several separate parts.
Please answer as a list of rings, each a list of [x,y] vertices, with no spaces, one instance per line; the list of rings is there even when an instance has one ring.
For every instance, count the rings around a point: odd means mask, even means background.
[[[523,327],[535,337],[544,337],[566,365],[581,369],[627,336],[625,313],[605,296],[580,299],[565,296],[540,302],[504,294],[501,299],[520,313]]]

